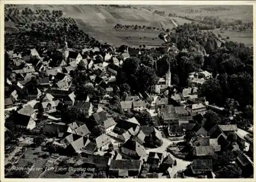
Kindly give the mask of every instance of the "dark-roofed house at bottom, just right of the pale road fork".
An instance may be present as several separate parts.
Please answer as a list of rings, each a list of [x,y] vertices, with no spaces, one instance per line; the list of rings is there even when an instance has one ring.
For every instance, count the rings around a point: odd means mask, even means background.
[[[212,172],[211,160],[194,160],[191,163],[191,170],[193,174],[207,175]]]

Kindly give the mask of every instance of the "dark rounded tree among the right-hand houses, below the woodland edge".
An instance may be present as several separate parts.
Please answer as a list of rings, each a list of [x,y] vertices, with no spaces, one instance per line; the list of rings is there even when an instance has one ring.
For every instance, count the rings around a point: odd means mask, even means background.
[[[212,110],[208,110],[205,115],[204,118],[206,119],[205,123],[204,123],[204,128],[209,131],[212,127],[214,127],[217,124],[221,123],[221,118],[220,116],[212,111]]]

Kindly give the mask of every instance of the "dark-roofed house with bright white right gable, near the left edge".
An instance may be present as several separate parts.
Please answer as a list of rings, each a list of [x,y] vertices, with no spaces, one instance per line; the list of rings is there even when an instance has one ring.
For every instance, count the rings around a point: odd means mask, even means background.
[[[22,115],[20,113],[17,114],[14,123],[16,124],[16,128],[18,129],[32,130],[36,127],[36,123],[31,116]]]

